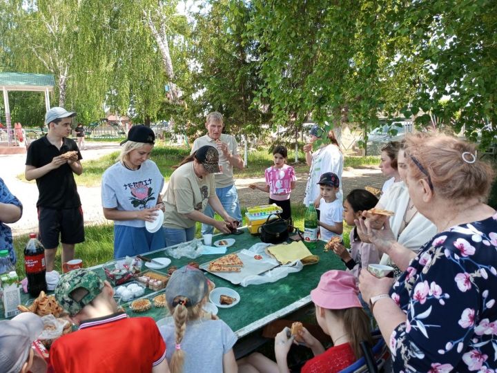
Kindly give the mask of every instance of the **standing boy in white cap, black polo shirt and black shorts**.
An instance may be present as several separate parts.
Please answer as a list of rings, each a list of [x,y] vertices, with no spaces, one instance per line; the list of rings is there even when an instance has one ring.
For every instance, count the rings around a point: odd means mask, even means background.
[[[83,166],[76,142],[68,138],[75,115],[59,107],[47,111],[48,133],[30,144],[26,157],[24,175],[28,181],[37,181],[39,191],[38,234],[45,247],[47,272],[54,269],[59,236],[62,263],[74,258],[75,244],[84,242],[83,211],[73,175],[81,175]]]

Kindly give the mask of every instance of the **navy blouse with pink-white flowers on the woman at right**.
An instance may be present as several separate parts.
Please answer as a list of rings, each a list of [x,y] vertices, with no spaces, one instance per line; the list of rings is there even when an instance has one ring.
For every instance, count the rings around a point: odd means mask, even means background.
[[[497,214],[422,247],[391,289],[395,372],[497,372]]]

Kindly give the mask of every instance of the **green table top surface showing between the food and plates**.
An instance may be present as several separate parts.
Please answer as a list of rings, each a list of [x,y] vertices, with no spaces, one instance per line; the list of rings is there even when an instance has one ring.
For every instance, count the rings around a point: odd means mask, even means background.
[[[217,239],[223,237],[235,238],[236,242],[233,246],[228,247],[227,254],[241,249],[249,249],[252,245],[261,242],[258,236],[252,236],[246,229],[242,230],[244,233],[238,236],[220,235],[216,237]],[[275,283],[242,287],[241,285],[233,285],[228,280],[224,280],[213,274],[206,273],[207,278],[212,280],[216,287],[230,287],[240,294],[240,303],[231,308],[219,308],[217,316],[226,322],[240,338],[277,318],[281,318],[309,304],[311,302],[310,291],[318,285],[320,276],[325,271],[329,271],[330,269],[345,269],[343,262],[333,251],[326,253],[323,251],[324,243],[318,241],[316,248],[311,250],[312,254],[320,256],[320,262],[315,265],[305,265],[301,271],[289,274]],[[170,265],[176,265],[179,268],[192,261],[202,264],[223,255],[225,254],[202,255],[195,259],[171,258],[172,262]],[[144,256],[159,258],[166,255],[164,249],[160,249],[150,251],[150,253],[144,254]],[[101,278],[105,278],[101,265],[92,267],[92,270],[96,271]],[[155,271],[164,274],[167,273],[167,270],[168,267],[155,269]],[[154,296],[162,294],[163,291],[164,289],[157,292],[147,290],[145,296],[148,296],[152,300]],[[22,294],[21,297],[23,304],[29,303],[29,294]],[[123,305],[123,307],[129,316],[150,316],[155,321],[168,315],[168,311],[165,308],[152,307],[147,312],[136,313],[130,310],[127,304]]]

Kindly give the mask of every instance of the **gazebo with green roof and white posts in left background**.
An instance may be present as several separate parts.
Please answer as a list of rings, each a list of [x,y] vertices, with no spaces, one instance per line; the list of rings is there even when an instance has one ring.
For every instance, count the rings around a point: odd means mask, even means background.
[[[6,113],[8,146],[12,145],[13,139],[8,91],[43,92],[45,94],[45,108],[48,111],[50,109],[50,92],[53,93],[54,86],[55,80],[51,74],[0,73],[0,87],[3,90],[3,104]]]

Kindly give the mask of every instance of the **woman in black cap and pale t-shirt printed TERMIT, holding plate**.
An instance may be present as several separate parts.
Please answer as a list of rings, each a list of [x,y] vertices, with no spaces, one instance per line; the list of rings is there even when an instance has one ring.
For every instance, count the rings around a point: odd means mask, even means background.
[[[147,231],[145,222],[157,218],[164,209],[161,198],[164,177],[149,160],[155,144],[153,131],[133,126],[121,142],[119,162],[102,176],[101,200],[104,216],[114,220],[114,258],[135,256],[164,247],[162,229]]]

